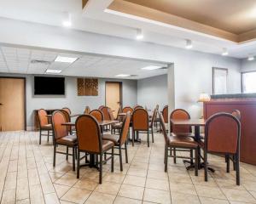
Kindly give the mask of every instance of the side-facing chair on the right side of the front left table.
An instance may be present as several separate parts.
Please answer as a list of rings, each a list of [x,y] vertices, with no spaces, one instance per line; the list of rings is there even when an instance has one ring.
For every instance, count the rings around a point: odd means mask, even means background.
[[[115,154],[119,156],[120,163],[120,171],[123,171],[123,161],[122,161],[122,150],[125,150],[125,161],[128,163],[128,153],[127,153],[127,144],[126,139],[129,133],[131,122],[131,113],[128,112],[125,116],[125,120],[122,123],[121,133],[119,135],[116,134],[103,134],[102,139],[108,139],[113,142],[115,148],[119,149],[119,154]],[[122,146],[125,144],[125,148]]]

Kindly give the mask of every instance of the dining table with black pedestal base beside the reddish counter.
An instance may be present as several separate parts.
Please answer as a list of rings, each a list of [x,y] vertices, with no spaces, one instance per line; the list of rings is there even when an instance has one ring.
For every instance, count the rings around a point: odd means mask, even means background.
[[[190,118],[190,119],[170,119],[170,122],[172,122],[173,125],[177,126],[190,126],[195,128],[194,132],[194,139],[195,142],[199,142],[203,137],[201,136],[200,127],[205,127],[206,120],[205,119],[196,119],[196,118]],[[184,160],[185,163],[190,163],[190,161]],[[199,156],[198,156],[198,168],[201,169],[204,167],[204,162],[201,162],[201,149],[199,149]],[[194,168],[195,164],[190,164],[189,167],[186,167],[187,169]],[[211,172],[214,172],[214,169],[212,167],[208,167],[208,170]]]

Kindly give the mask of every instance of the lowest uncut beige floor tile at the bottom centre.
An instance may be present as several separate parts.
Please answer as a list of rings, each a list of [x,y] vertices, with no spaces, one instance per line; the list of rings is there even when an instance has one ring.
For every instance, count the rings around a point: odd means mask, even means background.
[[[144,192],[143,187],[122,184],[118,195],[122,197],[143,200],[143,192]]]

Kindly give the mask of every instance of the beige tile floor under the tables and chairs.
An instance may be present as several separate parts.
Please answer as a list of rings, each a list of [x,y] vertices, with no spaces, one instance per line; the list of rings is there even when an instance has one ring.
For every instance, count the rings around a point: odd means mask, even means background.
[[[38,145],[38,133],[0,133],[1,203],[115,203],[115,204],[241,204],[256,203],[256,167],[241,163],[241,186],[235,172],[225,173],[224,158],[210,156],[215,173],[204,182],[203,171],[195,177],[186,171],[183,161],[169,159],[164,172],[164,139],[155,133],[155,142],[128,147],[129,163],[119,171],[116,156],[114,173],[104,165],[103,184],[98,184],[96,169],[84,167],[80,179],[72,171],[72,158],[58,155],[52,167],[53,147],[44,138]],[[124,160],[125,161],[125,160]]]

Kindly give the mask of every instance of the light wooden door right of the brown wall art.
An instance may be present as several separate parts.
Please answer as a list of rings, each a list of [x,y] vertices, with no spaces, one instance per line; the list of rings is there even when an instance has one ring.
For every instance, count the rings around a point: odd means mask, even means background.
[[[121,83],[106,82],[106,106],[112,109],[113,116],[116,117],[119,111],[121,101]]]

